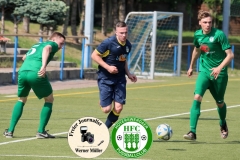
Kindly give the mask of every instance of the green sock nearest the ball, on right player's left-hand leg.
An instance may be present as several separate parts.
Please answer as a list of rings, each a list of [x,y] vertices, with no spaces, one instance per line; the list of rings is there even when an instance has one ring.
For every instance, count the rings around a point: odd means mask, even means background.
[[[194,133],[196,133],[197,122],[200,116],[200,105],[201,102],[194,100],[190,110],[190,130]]]

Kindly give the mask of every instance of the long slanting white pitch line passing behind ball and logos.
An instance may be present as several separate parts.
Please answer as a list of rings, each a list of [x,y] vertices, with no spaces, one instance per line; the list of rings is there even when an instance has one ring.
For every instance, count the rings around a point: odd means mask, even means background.
[[[227,108],[236,108],[236,107],[240,107],[240,105],[234,105],[234,106],[228,106]],[[208,111],[213,111],[216,110],[217,108],[212,108],[212,109],[206,109],[206,110],[201,110],[201,112],[208,112]],[[160,116],[160,117],[154,117],[154,118],[147,118],[144,119],[145,121],[150,121],[150,120],[155,120],[155,119],[162,119],[162,118],[169,118],[169,117],[177,117],[177,116],[182,116],[182,115],[187,115],[190,114],[190,112],[186,112],[186,113],[180,113],[180,114],[172,114],[172,115],[167,115],[167,116]],[[53,135],[63,135],[63,134],[67,134],[68,132],[62,132],[62,133],[56,133]],[[15,140],[15,141],[8,141],[8,142],[2,142],[0,143],[1,145],[5,145],[5,144],[10,144],[10,143],[16,143],[16,142],[24,142],[24,141],[30,141],[30,140],[34,140],[37,139],[36,137],[33,138],[25,138],[25,139],[19,139],[19,140]]]

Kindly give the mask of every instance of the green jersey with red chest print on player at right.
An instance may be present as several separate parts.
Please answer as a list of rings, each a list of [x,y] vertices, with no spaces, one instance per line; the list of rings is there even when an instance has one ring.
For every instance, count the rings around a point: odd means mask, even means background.
[[[218,67],[226,57],[225,50],[231,48],[225,34],[216,28],[212,28],[208,34],[203,34],[202,29],[194,34],[194,45],[200,48],[200,71],[211,73],[211,69]],[[227,75],[227,66],[219,75]]]

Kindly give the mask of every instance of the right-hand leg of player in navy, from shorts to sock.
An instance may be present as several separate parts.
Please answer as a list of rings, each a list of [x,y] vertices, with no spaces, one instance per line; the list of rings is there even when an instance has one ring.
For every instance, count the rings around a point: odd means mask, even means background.
[[[110,128],[119,118],[126,101],[126,78],[118,79],[114,88],[114,107],[109,113],[106,125]]]

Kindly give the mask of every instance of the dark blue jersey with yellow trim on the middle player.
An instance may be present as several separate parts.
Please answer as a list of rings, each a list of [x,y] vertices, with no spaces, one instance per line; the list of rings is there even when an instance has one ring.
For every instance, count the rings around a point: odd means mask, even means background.
[[[118,42],[116,36],[111,36],[105,39],[96,50],[101,55],[104,62],[110,66],[117,67],[118,73],[111,74],[105,68],[99,65],[99,78],[125,76],[125,63],[131,48],[132,45],[128,40],[126,40],[125,44],[121,44]]]

